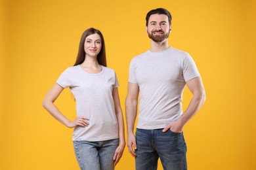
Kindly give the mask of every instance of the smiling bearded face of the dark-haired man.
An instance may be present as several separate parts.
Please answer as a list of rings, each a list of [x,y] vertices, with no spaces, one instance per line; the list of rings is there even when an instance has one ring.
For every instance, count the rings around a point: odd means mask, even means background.
[[[168,16],[165,14],[152,14],[148,19],[146,31],[148,32],[148,37],[155,42],[162,42],[167,39],[171,32]]]

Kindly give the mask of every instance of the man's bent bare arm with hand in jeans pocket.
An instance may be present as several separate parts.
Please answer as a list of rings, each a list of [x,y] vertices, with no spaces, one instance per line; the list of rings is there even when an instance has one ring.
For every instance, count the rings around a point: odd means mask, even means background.
[[[205,102],[205,90],[201,77],[193,78],[186,82],[188,89],[193,94],[193,97],[188,105],[188,108],[184,111],[181,118],[175,122],[171,122],[168,126],[163,129],[163,132],[171,130],[173,132],[181,133],[184,125],[190,120],[196,112],[202,107]]]

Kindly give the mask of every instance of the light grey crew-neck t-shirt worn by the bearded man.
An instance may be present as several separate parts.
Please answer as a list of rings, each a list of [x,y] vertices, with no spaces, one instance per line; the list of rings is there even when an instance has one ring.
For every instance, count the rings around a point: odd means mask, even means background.
[[[137,128],[160,129],[182,115],[186,81],[200,76],[190,55],[175,48],[144,52],[131,60],[129,82],[139,85]]]

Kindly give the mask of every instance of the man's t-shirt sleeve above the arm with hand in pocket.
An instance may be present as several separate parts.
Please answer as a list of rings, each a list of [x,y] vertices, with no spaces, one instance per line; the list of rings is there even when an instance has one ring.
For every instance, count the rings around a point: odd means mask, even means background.
[[[187,54],[184,58],[182,70],[185,82],[191,80],[192,78],[200,76],[198,68],[196,67],[196,63],[194,62],[190,54]]]

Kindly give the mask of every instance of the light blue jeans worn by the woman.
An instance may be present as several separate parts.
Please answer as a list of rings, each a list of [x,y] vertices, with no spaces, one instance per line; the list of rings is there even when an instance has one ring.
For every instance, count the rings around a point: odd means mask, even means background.
[[[74,141],[75,156],[81,170],[114,170],[114,154],[119,140]]]

